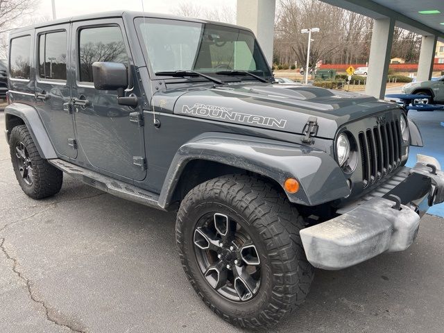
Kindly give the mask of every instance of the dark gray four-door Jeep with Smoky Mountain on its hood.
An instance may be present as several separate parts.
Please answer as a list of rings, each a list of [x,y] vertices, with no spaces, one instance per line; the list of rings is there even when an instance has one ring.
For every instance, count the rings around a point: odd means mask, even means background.
[[[314,267],[408,248],[444,200],[433,157],[400,106],[275,84],[251,31],[110,12],[10,34],[6,139],[23,191],[63,173],[178,210],[189,282],[216,314],[272,325],[300,304]]]

